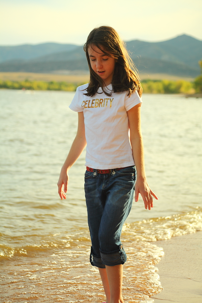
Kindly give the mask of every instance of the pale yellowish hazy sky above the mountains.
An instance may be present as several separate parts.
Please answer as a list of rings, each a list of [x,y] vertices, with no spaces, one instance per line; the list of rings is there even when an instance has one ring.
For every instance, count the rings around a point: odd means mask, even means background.
[[[163,41],[187,34],[202,40],[201,0],[0,0],[0,45],[81,45],[98,25],[126,40]]]

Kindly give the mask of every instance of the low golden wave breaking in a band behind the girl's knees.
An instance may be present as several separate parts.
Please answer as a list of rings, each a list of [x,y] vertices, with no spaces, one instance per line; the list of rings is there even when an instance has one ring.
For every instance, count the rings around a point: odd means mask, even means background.
[[[122,242],[158,241],[202,230],[202,208],[196,207],[187,213],[178,213],[167,217],[151,218],[134,223],[124,223]],[[3,235],[2,235],[3,236]],[[5,235],[2,237],[5,239]],[[57,233],[41,237],[41,241],[23,246],[0,244],[0,258],[14,255],[32,255],[40,250],[89,247],[90,235],[87,228],[79,228],[66,234]]]

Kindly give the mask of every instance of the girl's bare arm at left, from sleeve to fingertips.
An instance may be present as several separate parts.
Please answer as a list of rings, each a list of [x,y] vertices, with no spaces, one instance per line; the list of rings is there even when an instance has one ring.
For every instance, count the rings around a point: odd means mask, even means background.
[[[61,200],[66,199],[65,193],[67,192],[67,184],[68,184],[68,170],[71,166],[76,162],[78,157],[81,155],[82,151],[86,146],[86,138],[85,138],[85,126],[84,126],[84,113],[78,112],[78,130],[74,142],[71,145],[69,154],[65,163],[63,164],[60,172],[60,177],[58,180],[58,194]],[[64,185],[64,190],[63,190]]]

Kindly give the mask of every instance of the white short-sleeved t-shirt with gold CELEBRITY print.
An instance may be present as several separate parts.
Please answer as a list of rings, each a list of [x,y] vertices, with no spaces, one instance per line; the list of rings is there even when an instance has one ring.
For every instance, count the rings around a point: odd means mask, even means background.
[[[75,112],[84,112],[87,141],[85,165],[96,169],[111,169],[134,165],[128,136],[127,111],[141,103],[137,91],[105,95],[101,88],[93,97],[85,96],[88,84],[77,88],[69,106]],[[109,92],[112,85],[106,87]],[[83,91],[84,90],[84,91]]]

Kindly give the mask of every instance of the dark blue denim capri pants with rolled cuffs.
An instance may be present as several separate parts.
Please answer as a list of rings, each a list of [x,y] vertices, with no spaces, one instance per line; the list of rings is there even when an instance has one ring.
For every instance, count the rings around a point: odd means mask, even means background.
[[[136,170],[134,166],[99,174],[85,172],[85,198],[91,235],[90,262],[99,268],[126,262],[121,230],[131,210]]]

